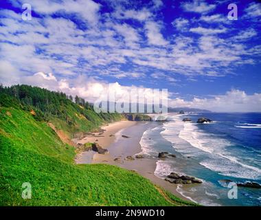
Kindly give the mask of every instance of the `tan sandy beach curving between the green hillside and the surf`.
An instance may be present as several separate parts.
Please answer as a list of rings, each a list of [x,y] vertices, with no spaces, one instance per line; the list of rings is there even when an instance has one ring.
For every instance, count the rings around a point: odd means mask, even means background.
[[[121,121],[102,126],[101,129],[104,129],[102,134],[95,133],[95,136],[87,135],[87,137],[79,140],[78,143],[97,142],[102,148],[108,149],[108,153],[82,152],[77,155],[76,164],[110,164],[127,170],[133,170],[152,181],[153,184],[172,192],[173,195],[180,199],[191,201],[177,191],[178,185],[171,184],[154,174],[158,158],[126,159],[127,156],[141,153],[142,149],[139,142],[144,131],[159,126],[159,123]],[[122,137],[122,135],[126,135],[127,137]]]

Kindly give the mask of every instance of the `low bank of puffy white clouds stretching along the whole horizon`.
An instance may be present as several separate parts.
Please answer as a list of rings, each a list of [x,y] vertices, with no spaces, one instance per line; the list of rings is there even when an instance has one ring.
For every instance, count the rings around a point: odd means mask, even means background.
[[[164,77],[164,74],[152,74],[152,77],[160,78]],[[54,91],[63,91],[72,96],[78,95],[89,102],[106,100],[109,93],[115,94],[117,101],[124,102],[126,101],[126,97],[131,94],[132,89],[142,91],[148,98],[148,101],[150,101],[149,103],[152,103],[153,97],[156,97],[155,91],[150,88],[122,86],[117,82],[109,85],[109,83],[88,78],[84,75],[69,80],[65,78],[57,79],[52,73],[45,74],[39,72],[33,76],[23,77],[21,83],[36,85]],[[238,89],[231,89],[231,91],[227,91],[224,95],[213,96],[211,98],[194,97],[191,101],[180,97],[170,98],[170,95],[168,97],[161,96],[163,99],[168,99],[168,107],[192,107],[221,112],[261,111],[261,94],[248,95],[245,91]]]

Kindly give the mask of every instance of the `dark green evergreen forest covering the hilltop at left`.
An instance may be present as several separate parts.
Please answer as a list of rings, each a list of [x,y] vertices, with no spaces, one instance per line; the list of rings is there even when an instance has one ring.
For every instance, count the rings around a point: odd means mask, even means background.
[[[74,101],[74,102],[73,102]],[[40,87],[30,85],[12,85],[3,87],[0,85],[0,107],[22,108],[23,110],[36,111],[36,119],[48,120],[49,117],[57,117],[67,120],[69,123],[69,109],[81,113],[89,119],[88,111],[94,113],[93,105],[83,98],[67,96],[63,92],[49,91]],[[96,113],[95,113],[96,114]],[[111,114],[100,113],[97,116],[109,120]]]

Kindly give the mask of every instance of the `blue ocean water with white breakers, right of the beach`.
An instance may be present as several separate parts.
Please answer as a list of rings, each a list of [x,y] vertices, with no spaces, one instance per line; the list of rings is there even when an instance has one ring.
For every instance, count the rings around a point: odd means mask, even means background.
[[[213,122],[196,124],[201,117]],[[144,132],[140,144],[150,157],[161,151],[177,155],[158,159],[157,177],[174,171],[203,180],[178,186],[192,201],[205,206],[261,206],[261,189],[238,187],[237,199],[229,199],[231,188],[224,181],[261,184],[261,113],[169,114],[167,122]]]

